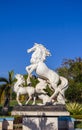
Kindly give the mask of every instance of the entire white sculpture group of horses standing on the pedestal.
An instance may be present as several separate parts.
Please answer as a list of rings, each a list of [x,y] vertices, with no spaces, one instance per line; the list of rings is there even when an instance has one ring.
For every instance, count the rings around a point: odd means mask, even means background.
[[[35,104],[36,97],[35,93],[38,94],[38,98],[42,100],[42,104],[37,105],[46,105],[47,103],[55,104],[65,104],[65,90],[68,88],[68,80],[65,77],[59,76],[55,71],[51,70],[45,64],[45,60],[48,56],[51,55],[50,51],[46,49],[42,44],[35,43],[34,46],[27,50],[28,53],[32,52],[32,56],[30,59],[30,65],[26,67],[26,71],[28,74],[27,78],[27,87],[22,87],[21,85],[24,83],[23,76],[20,74],[16,75],[17,82],[14,85],[14,91],[17,93],[17,101],[19,105],[22,105],[19,101],[20,94],[28,93],[29,99],[26,104],[28,104],[29,100],[34,99],[33,104]],[[32,72],[38,76],[39,83],[36,84],[35,88],[33,86],[29,86],[30,77],[32,77]],[[61,81],[60,84],[59,81]],[[53,94],[49,96],[46,89],[47,85],[53,91]]]

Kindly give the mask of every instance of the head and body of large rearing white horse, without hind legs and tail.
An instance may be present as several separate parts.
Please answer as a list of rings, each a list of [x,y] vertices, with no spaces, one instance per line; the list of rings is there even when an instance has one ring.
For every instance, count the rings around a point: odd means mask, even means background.
[[[39,77],[48,80],[52,88],[55,90],[59,82],[59,75],[55,71],[49,69],[44,63],[46,57],[51,55],[49,50],[43,45],[35,43],[31,49],[28,49],[28,53],[32,51],[34,51],[34,53],[30,60],[31,65],[26,67],[27,73],[31,75],[35,70],[36,74]]]

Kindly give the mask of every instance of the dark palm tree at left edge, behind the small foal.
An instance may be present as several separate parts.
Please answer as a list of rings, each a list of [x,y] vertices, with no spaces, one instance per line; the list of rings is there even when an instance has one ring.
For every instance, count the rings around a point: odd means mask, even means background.
[[[10,97],[12,93],[12,86],[15,82],[14,79],[14,71],[8,72],[8,79],[4,77],[0,77],[0,100],[2,99],[2,95],[4,93],[4,107],[8,108]]]

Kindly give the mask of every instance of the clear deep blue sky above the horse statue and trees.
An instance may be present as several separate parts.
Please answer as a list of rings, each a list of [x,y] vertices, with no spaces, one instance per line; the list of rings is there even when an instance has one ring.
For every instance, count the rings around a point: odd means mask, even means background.
[[[82,57],[82,1],[0,0],[0,76],[26,73],[27,49],[35,42],[50,50],[51,69],[65,58]]]

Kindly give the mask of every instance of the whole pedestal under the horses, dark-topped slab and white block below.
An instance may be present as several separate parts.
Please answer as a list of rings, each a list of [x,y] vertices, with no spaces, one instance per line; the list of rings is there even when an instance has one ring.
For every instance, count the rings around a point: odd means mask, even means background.
[[[69,117],[65,105],[15,106],[12,115],[23,116],[23,130],[73,130],[68,120],[60,118]]]

